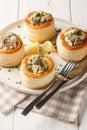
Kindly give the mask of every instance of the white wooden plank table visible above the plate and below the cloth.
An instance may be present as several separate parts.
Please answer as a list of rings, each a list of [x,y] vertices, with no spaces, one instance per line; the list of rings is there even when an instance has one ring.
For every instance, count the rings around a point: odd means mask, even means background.
[[[33,10],[49,11],[87,30],[87,0],[0,0],[0,29]],[[84,110],[81,122],[73,125],[32,112],[23,117],[21,109],[14,108],[8,116],[0,114],[0,130],[87,130],[86,105]]]

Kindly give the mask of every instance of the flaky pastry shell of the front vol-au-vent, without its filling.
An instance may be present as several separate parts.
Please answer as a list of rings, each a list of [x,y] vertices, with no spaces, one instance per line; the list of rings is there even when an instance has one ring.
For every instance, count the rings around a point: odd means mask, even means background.
[[[20,74],[21,74],[23,84],[26,87],[31,89],[38,89],[38,88],[40,89],[40,88],[47,87],[47,85],[52,82],[55,76],[54,62],[52,61],[52,59],[50,59],[50,57],[44,56],[44,58],[46,58],[46,60],[49,63],[49,68],[43,73],[38,74],[38,73],[29,72],[27,70],[26,64],[28,58],[29,56],[23,59],[21,64],[21,69],[20,69]]]

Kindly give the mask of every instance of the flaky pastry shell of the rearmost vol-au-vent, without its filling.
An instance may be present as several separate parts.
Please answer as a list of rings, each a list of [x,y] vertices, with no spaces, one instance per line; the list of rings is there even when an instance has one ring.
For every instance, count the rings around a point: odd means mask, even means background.
[[[34,13],[34,12],[33,12]],[[54,18],[51,16],[51,20],[43,23],[41,25],[32,25],[29,22],[29,17],[32,13],[26,16],[24,19],[24,28],[26,36],[31,41],[44,42],[55,37],[56,30],[54,24]]]

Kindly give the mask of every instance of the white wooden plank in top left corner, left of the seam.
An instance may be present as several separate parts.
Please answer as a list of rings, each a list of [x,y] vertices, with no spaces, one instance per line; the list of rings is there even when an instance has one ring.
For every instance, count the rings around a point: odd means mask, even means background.
[[[0,29],[18,18],[18,0],[0,0]]]

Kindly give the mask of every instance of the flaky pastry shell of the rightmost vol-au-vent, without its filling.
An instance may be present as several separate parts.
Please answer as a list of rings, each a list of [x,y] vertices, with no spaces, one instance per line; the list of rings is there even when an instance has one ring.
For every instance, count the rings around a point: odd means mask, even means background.
[[[72,28],[67,28],[72,29]],[[64,29],[57,37],[57,51],[60,57],[67,61],[80,61],[87,55],[87,41],[85,43],[70,46],[65,42],[64,32],[67,30]],[[84,32],[85,33],[85,32]],[[87,34],[86,34],[87,36]]]

